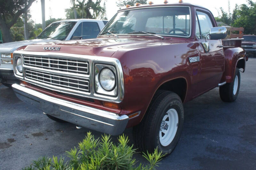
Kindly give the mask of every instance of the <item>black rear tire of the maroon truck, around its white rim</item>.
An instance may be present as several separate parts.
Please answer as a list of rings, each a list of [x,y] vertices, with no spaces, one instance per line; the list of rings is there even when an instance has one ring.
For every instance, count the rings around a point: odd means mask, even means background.
[[[236,88],[234,87],[236,76],[238,78],[238,85],[237,85],[236,93],[234,94],[234,88]],[[238,96],[239,89],[240,89],[240,71],[238,70],[238,68],[236,68],[233,82],[220,86],[221,100],[223,100],[224,102],[234,102]]]

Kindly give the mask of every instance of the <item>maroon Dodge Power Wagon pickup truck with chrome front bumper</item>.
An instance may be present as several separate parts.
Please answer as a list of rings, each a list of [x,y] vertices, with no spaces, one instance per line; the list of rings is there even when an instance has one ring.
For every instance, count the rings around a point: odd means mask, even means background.
[[[112,135],[133,127],[139,151],[170,154],[184,103],[216,87],[224,102],[238,96],[246,55],[226,34],[201,6],[128,5],[97,39],[15,51],[12,87],[52,120]]]

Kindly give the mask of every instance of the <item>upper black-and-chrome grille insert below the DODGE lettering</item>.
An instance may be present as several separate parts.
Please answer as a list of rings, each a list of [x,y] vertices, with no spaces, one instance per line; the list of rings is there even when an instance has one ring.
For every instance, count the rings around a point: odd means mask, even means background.
[[[68,73],[89,74],[89,63],[77,59],[24,55],[24,65]]]

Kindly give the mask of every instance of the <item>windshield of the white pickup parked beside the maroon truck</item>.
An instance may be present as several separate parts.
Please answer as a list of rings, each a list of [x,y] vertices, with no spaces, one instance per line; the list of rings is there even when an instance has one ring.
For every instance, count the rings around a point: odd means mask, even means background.
[[[65,40],[75,24],[74,21],[52,23],[37,36],[37,39]]]

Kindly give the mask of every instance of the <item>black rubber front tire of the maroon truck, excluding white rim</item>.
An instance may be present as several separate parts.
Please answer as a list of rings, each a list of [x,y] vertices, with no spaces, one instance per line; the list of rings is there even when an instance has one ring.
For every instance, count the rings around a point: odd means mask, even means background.
[[[160,126],[164,116],[167,115],[167,111],[170,109],[177,111],[178,128],[173,140],[169,141],[170,144],[163,146],[159,137]],[[166,155],[170,154],[180,139],[183,122],[184,110],[180,97],[171,91],[157,90],[144,118],[139,125],[133,128],[135,147],[144,153],[147,151],[152,153],[157,148],[158,151],[162,151]]]

